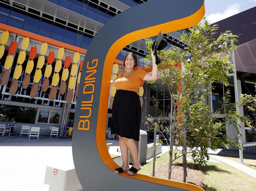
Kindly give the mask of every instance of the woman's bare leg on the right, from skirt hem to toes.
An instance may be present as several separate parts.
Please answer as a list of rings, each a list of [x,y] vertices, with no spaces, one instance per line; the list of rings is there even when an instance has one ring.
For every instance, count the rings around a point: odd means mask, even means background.
[[[132,158],[134,160],[134,163],[132,166],[136,169],[139,169],[139,167],[141,167],[141,163],[139,162],[137,145],[135,140],[132,138],[126,138],[126,137],[122,137],[122,140],[125,143],[128,150],[130,151]],[[133,174],[131,171],[128,171],[128,173]]]

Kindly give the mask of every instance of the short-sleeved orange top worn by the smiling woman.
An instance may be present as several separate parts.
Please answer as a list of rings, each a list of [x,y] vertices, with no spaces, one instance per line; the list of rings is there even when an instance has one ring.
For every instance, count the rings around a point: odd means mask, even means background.
[[[143,69],[135,69],[128,76],[123,77],[122,73],[124,71],[120,71],[114,85],[118,89],[128,90],[128,91],[139,91],[139,86],[141,85],[141,81],[147,74],[147,72]]]

